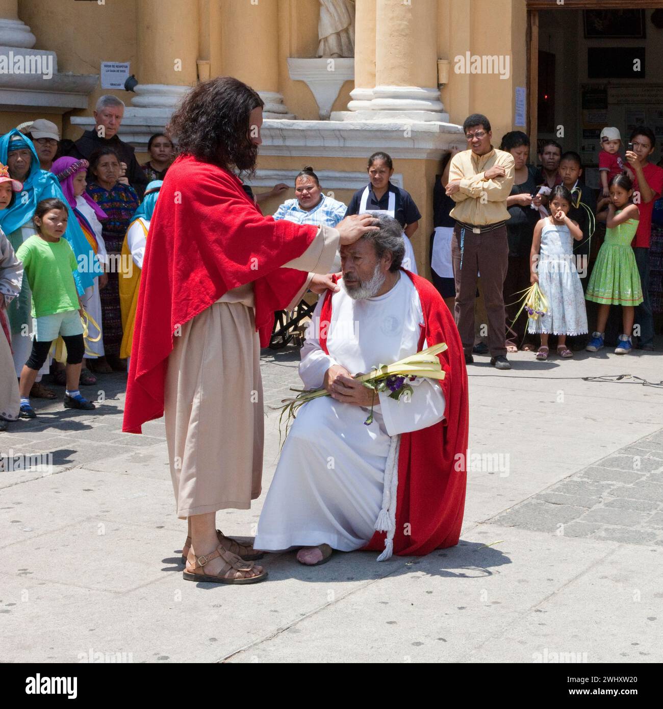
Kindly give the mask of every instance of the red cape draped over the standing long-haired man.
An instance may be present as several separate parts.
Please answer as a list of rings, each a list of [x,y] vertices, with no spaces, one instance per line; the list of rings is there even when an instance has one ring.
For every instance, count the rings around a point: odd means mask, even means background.
[[[307,277],[281,267],[306,251],[317,230],[262,216],[221,167],[190,155],[175,160],[150,221],[123,431],[140,433],[163,415],[173,333],[227,291],[254,284],[256,330],[267,345],[274,311],[289,305]]]

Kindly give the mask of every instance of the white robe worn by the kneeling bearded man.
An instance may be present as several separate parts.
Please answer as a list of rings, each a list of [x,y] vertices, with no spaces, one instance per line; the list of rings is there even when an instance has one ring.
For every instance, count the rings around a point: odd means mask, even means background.
[[[402,272],[384,296],[353,301],[343,287],[334,294],[329,354],[321,350],[316,332],[322,303],[323,298],[301,351],[299,375],[306,389],[322,386],[333,364],[354,376],[417,352],[421,303],[412,281]],[[327,396],[299,410],[262,508],[256,549],[328,544],[350,552],[367,544],[382,507],[391,437],[428,428],[444,418],[440,385],[430,379],[412,384],[408,402],[381,392],[374,421],[368,426],[364,420],[369,409]]]

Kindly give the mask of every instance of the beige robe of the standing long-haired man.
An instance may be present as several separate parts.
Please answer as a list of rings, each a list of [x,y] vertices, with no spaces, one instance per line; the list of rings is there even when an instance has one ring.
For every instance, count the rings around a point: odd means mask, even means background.
[[[328,273],[338,245],[338,230],[323,226],[284,268]],[[182,325],[168,358],[166,440],[179,518],[246,510],[260,496],[262,407],[260,340],[253,286],[247,284]]]

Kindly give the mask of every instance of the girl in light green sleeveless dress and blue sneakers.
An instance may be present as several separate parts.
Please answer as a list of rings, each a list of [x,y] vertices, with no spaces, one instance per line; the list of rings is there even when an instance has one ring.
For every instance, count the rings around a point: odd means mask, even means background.
[[[633,348],[633,308],[642,303],[642,288],[631,242],[640,220],[640,212],[632,201],[633,182],[627,174],[615,175],[610,182],[606,240],[596,257],[585,298],[599,303],[596,332],[586,350],[597,352],[603,347],[603,336],[610,306],[622,306],[623,335],[615,354],[628,354]]]

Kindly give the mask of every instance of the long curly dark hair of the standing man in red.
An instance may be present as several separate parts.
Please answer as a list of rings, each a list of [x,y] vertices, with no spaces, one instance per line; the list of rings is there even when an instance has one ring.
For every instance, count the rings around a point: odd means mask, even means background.
[[[264,102],[250,86],[233,77],[217,77],[191,89],[167,127],[181,155],[253,172],[258,147],[250,140],[249,116]]]

